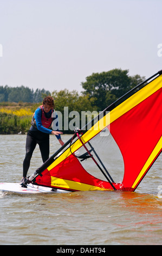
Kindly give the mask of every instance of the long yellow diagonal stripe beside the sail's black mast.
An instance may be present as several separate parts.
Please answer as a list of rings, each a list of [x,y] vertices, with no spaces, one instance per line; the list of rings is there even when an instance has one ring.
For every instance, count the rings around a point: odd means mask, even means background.
[[[150,82],[147,86],[142,88],[139,92],[135,95],[132,95],[127,100],[122,102],[119,106],[115,107],[111,112],[107,113],[105,117],[101,118],[99,122],[97,122],[92,129],[88,130],[81,138],[84,143],[88,142],[91,138],[97,135],[100,131],[102,131],[106,126],[111,124],[113,121],[121,117],[121,115],[128,112],[133,107],[137,106],[140,102],[144,101],[152,95],[153,93],[157,92],[158,89],[161,88],[161,78],[162,75],[157,77],[155,80]],[[111,113],[111,114],[110,114]],[[111,127],[110,127],[111,130]],[[78,150],[82,146],[81,142],[77,140],[71,147],[72,153]],[[69,148],[64,151],[64,153],[58,157],[47,169],[51,170],[57,164],[62,162],[66,159],[69,155],[71,155]]]

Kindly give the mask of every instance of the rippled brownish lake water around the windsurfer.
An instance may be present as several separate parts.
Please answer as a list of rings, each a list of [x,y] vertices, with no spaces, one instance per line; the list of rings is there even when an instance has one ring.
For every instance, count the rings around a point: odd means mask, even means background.
[[[0,135],[0,182],[21,180],[25,139]],[[50,136],[50,152],[59,148]],[[161,245],[161,162],[162,155],[135,192],[0,193],[0,245]],[[41,164],[36,147],[29,175]]]

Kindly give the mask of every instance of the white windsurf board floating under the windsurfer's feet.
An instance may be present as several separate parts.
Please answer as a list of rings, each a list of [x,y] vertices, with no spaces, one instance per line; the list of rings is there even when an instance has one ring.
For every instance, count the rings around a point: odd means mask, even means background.
[[[22,187],[19,183],[0,182],[1,192],[14,192],[20,194],[37,194],[37,193],[68,193],[69,191],[57,190],[51,191],[50,187],[42,187],[28,184],[27,188]]]

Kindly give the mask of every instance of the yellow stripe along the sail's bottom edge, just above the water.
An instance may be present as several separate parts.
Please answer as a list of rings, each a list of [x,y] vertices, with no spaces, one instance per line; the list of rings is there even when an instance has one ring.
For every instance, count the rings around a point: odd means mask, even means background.
[[[72,180],[64,180],[51,176],[51,186],[60,187],[60,188],[69,188],[70,190],[79,190],[79,191],[94,191],[94,190],[106,190],[106,188],[101,188],[97,186],[92,186]]]

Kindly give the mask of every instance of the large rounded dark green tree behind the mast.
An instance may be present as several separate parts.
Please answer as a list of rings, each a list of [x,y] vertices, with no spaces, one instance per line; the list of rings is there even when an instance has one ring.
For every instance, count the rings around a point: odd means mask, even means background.
[[[102,111],[143,79],[139,75],[128,76],[128,70],[121,69],[93,73],[86,77],[86,82],[81,83],[85,89],[82,93],[89,97],[92,106]]]

